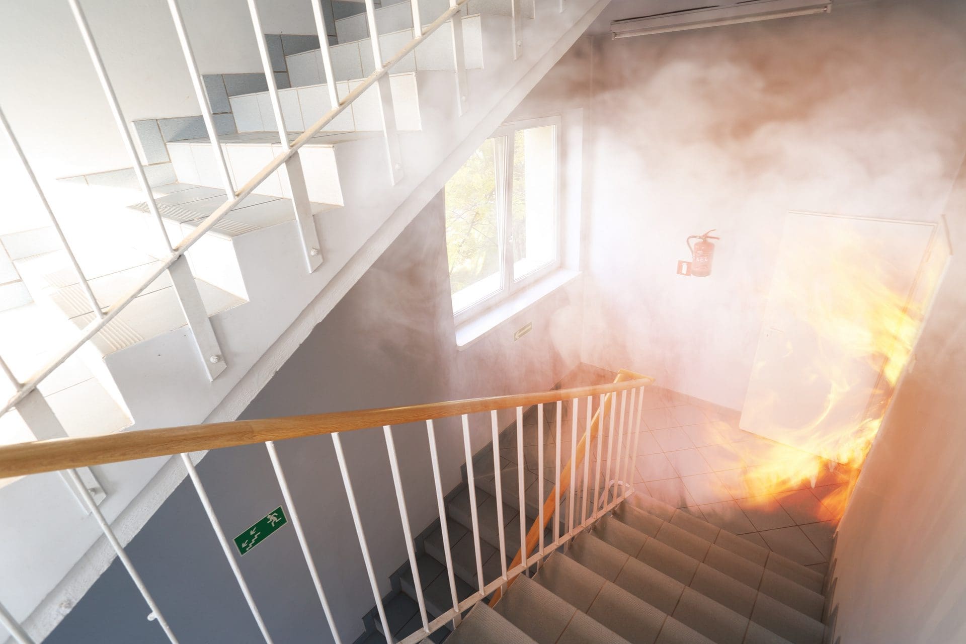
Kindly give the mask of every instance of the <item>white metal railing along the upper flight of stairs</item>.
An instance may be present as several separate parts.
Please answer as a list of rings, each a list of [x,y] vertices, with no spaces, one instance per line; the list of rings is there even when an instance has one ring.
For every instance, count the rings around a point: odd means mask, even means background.
[[[157,250],[155,254],[156,257],[159,258],[160,262],[157,264],[155,270],[146,275],[141,282],[130,287],[126,293],[122,294],[109,305],[101,306],[97,295],[90,285],[89,280],[85,276],[84,271],[74,256],[68,238],[65,237],[63,231],[61,230],[60,224],[58,223],[58,218],[44,194],[41,183],[37,180],[26,154],[24,154],[23,150],[20,148],[17,138],[14,135],[13,127],[8,122],[3,110],[0,109],[0,125],[3,126],[4,132],[13,144],[14,152],[19,158],[24,172],[27,174],[27,177],[29,178],[38,198],[43,205],[43,209],[46,211],[46,214],[50,219],[51,226],[56,232],[57,237],[59,238],[60,243],[66,252],[67,258],[71,264],[71,268],[76,274],[78,283],[87,300],[89,301],[95,316],[92,322],[79,329],[77,336],[71,340],[67,347],[57,351],[53,358],[48,360],[29,378],[26,378],[23,381],[15,378],[14,373],[7,367],[6,363],[2,362],[2,358],[0,358],[0,365],[2,365],[4,375],[10,379],[11,383],[14,385],[14,395],[11,396],[6,403],[0,406],[0,416],[9,412],[11,409],[16,408],[17,411],[19,411],[24,423],[35,437],[51,438],[66,436],[67,434],[64,431],[61,423],[58,421],[56,415],[50,410],[50,407],[47,406],[46,402],[43,400],[43,396],[41,396],[37,391],[38,385],[43,382],[44,378],[50,376],[50,374],[52,374],[59,366],[70,358],[73,353],[75,353],[77,350],[80,350],[88,341],[94,338],[107,324],[112,322],[122,311],[128,307],[132,301],[134,301],[138,295],[142,294],[149,285],[155,282],[155,280],[162,276],[165,272],[167,272],[171,278],[174,292],[177,295],[178,301],[185,315],[185,321],[187,322],[187,325],[191,330],[191,335],[194,338],[199,359],[207,370],[209,378],[217,378],[228,365],[225,360],[224,353],[221,350],[220,342],[214,332],[212,322],[208,318],[201,294],[198,291],[198,287],[191,273],[191,268],[188,266],[185,253],[200,238],[207,235],[229,212],[236,208],[241,203],[242,199],[251,194],[262,182],[268,179],[272,173],[280,171],[280,169],[284,166],[284,170],[281,171],[281,174],[283,175],[282,180],[284,182],[288,182],[288,187],[290,188],[289,192],[291,193],[292,197],[292,206],[293,210],[295,210],[296,222],[298,224],[298,235],[301,241],[301,246],[305,253],[306,267],[309,272],[312,272],[321,266],[323,262],[322,243],[319,239],[315,221],[311,212],[305,176],[302,172],[301,161],[298,154],[299,150],[313,136],[318,134],[324,127],[331,123],[333,119],[349,108],[349,106],[352,105],[357,98],[361,97],[366,91],[375,86],[375,91],[379,94],[383,136],[386,152],[389,158],[389,177],[391,182],[398,182],[404,176],[404,167],[399,147],[399,136],[396,128],[388,73],[417,46],[423,42],[426,42],[426,40],[433,33],[435,33],[446,23],[449,23],[452,28],[453,57],[457,80],[456,98],[457,104],[460,106],[462,113],[467,99],[467,73],[463,49],[463,17],[461,11],[469,0],[450,0],[449,9],[440,14],[440,16],[429,25],[422,24],[422,20],[419,17],[418,0],[411,0],[414,38],[386,61],[384,61],[378,38],[375,6],[372,0],[366,0],[366,17],[369,30],[371,34],[377,36],[370,39],[372,42],[373,55],[375,57],[374,60],[376,70],[369,74],[369,76],[367,76],[357,87],[355,87],[353,91],[349,92],[348,95],[341,100],[338,98],[336,92],[335,76],[332,70],[331,55],[327,40],[327,25],[325,15],[322,11],[319,0],[306,1],[312,6],[315,27],[319,35],[319,45],[322,54],[323,67],[325,68],[326,72],[328,98],[330,100],[329,105],[331,106],[331,109],[329,109],[328,112],[315,124],[306,127],[302,133],[295,138],[295,140],[291,142],[289,141],[289,132],[285,126],[285,118],[281,111],[278,88],[275,84],[269,51],[266,46],[265,37],[261,26],[261,15],[257,6],[257,0],[247,0],[248,12],[251,16],[255,29],[255,40],[258,43],[259,55],[262,60],[266,80],[269,86],[270,102],[275,116],[275,123],[278,126],[278,135],[282,152],[281,154],[275,156],[270,163],[258,171],[248,182],[241,187],[238,187],[232,181],[231,173],[228,171],[225,152],[222,148],[218,132],[213,121],[213,110],[209,102],[208,95],[205,91],[201,73],[198,70],[198,66],[195,61],[191,42],[188,38],[185,28],[185,20],[181,13],[178,0],[167,0],[168,9],[171,13],[175,31],[178,36],[178,41],[181,45],[182,53],[185,58],[185,66],[190,75],[191,84],[198,99],[199,107],[201,108],[201,116],[204,120],[209,139],[212,143],[218,174],[223,182],[223,187],[225,190],[224,203],[214,210],[213,213],[199,226],[197,226],[190,234],[186,235],[185,238],[181,239],[177,243],[172,243],[168,236],[168,232],[165,229],[160,210],[158,210],[154,192],[151,189],[151,185],[148,182],[147,175],[145,174],[144,168],[141,165],[135,149],[134,141],[128,129],[128,122],[125,118],[124,111],[122,110],[121,104],[114,91],[114,87],[111,84],[110,75],[104,67],[103,60],[100,56],[98,43],[95,41],[90,25],[88,24],[87,17],[84,14],[83,8],[81,7],[80,0],[66,0],[71,9],[71,14],[73,15],[74,21],[76,22],[77,29],[79,30],[81,38],[83,39],[86,50],[91,58],[94,69],[97,72],[101,89],[103,90],[104,97],[107,100],[107,104],[118,128],[121,140],[124,143],[124,147],[127,151],[137,182],[140,186],[140,189],[144,192],[147,208],[156,221],[158,234],[156,239]],[[519,0],[515,0],[515,2],[519,3]],[[85,490],[90,490],[92,493],[94,493],[95,500],[99,502],[103,498],[103,490],[100,489],[99,483],[94,477],[94,474],[87,468],[80,468],[78,469],[78,472],[85,483]],[[78,501],[86,507],[82,496],[78,495]]]

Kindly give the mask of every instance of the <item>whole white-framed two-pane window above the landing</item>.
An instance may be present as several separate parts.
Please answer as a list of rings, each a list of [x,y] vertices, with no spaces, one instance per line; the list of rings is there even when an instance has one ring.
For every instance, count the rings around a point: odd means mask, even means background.
[[[457,322],[560,264],[559,121],[500,127],[446,182],[446,252]]]

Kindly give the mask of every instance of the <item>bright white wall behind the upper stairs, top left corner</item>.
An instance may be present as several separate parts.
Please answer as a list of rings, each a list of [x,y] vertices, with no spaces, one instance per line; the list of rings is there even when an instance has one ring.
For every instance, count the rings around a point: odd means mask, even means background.
[[[165,0],[81,5],[128,121],[201,113]],[[202,73],[262,70],[244,0],[179,5]],[[267,33],[314,33],[304,0],[263,1],[260,8]],[[4,3],[0,59],[0,104],[39,176],[130,167],[66,0]],[[20,176],[5,139],[0,173]]]

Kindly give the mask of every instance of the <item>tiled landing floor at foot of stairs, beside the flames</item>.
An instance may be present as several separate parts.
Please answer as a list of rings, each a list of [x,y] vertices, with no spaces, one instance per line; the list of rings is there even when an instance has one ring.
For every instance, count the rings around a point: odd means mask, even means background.
[[[599,380],[598,380],[599,381]],[[596,409],[595,401],[594,409]],[[754,496],[745,482],[749,470],[775,458],[783,449],[767,438],[738,429],[739,413],[699,401],[674,391],[651,386],[643,399],[634,487],[665,503],[685,508],[696,517],[768,547],[803,565],[824,572],[832,547],[838,517],[823,499],[848,481],[848,473],[823,469],[815,487],[806,482],[797,489]],[[570,459],[573,418],[570,406],[563,406],[561,462]],[[579,402],[578,436],[586,422],[585,401]],[[545,493],[554,483],[554,410],[548,408],[545,444]],[[609,428],[607,428],[609,429]],[[536,414],[524,422],[524,457],[530,472],[538,471]],[[516,468],[516,434],[501,435],[501,462]],[[602,468],[607,466],[608,443],[604,440]],[[596,450],[591,450],[590,480],[596,467]],[[490,468],[492,470],[492,467]],[[511,477],[505,477],[504,480]],[[601,478],[604,478],[602,472]],[[537,477],[527,477],[527,496],[537,493]],[[532,490],[531,490],[532,489]]]

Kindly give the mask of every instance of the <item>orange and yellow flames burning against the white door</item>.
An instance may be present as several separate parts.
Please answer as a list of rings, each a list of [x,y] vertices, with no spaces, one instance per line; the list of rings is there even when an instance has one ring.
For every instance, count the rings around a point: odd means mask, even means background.
[[[912,355],[926,304],[938,286],[940,263],[920,266],[912,288],[908,278],[904,287],[896,287],[903,284],[896,274],[908,266],[880,261],[889,256],[883,249],[851,236],[823,243],[828,255],[821,261],[803,256],[783,263],[771,305],[790,312],[793,323],[804,322],[807,327],[798,328],[808,328],[814,337],[814,344],[798,354],[788,343],[782,357],[806,365],[803,389],[823,392],[824,405],[793,427],[776,428],[796,447],[774,443],[761,455],[762,464],[748,470],[744,484],[752,496],[800,490],[839,468],[847,484],[822,502],[840,517]],[[781,415],[782,405],[789,401],[776,394],[764,411],[788,417]]]

